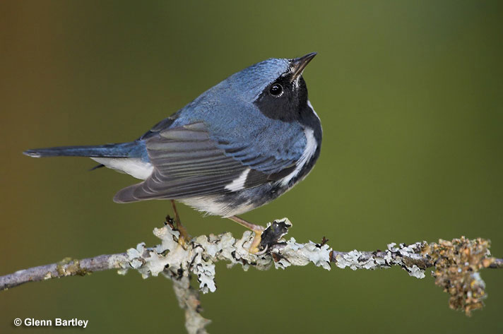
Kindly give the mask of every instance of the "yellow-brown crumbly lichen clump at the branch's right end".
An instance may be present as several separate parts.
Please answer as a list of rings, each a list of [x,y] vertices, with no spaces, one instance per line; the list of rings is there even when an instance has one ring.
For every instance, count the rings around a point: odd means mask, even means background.
[[[438,244],[425,246],[422,253],[430,256],[434,265],[432,272],[435,284],[451,295],[451,309],[463,310],[467,316],[481,309],[485,294],[485,283],[478,270],[487,268],[495,261],[490,257],[490,241],[485,239],[440,239]]]

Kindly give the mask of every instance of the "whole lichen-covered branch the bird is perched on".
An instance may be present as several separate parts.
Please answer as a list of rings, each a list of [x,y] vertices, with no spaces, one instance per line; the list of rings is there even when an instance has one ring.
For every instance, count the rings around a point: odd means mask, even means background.
[[[240,239],[230,233],[202,235],[179,244],[179,232],[171,225],[154,229],[160,244],[147,248],[144,243],[123,254],[102,255],[83,260],[65,259],[60,263],[20,270],[0,277],[0,290],[25,282],[47,280],[71,275],[85,275],[93,271],[119,269],[125,274],[129,269],[138,270],[143,278],[164,275],[174,283],[174,291],[182,309],[185,310],[186,328],[189,333],[206,333],[209,321],[200,314],[199,292],[190,285],[194,275],[199,291],[214,292],[215,263],[227,262],[227,266],[242,266],[244,270],[254,267],[267,270],[271,267],[285,269],[289,266],[306,266],[309,263],[326,270],[331,263],[338,268],[377,269],[399,266],[410,276],[424,278],[425,270],[434,267],[435,282],[448,292],[449,305],[462,309],[467,315],[483,306],[486,297],[485,284],[479,270],[503,268],[503,260],[492,258],[489,241],[484,239],[440,240],[428,244],[389,244],[378,251],[334,251],[323,239],[319,244],[312,241],[298,243],[285,239],[292,226],[286,218],[269,224],[262,234],[261,254],[251,254],[252,232],[244,232]]]

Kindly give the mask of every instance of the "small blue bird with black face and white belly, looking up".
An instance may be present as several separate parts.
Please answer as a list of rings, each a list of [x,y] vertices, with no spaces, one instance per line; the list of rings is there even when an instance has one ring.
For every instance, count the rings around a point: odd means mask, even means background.
[[[36,148],[30,157],[90,157],[141,179],[114,201],[170,200],[234,220],[255,233],[264,227],[237,215],[292,189],[312,170],[321,150],[321,121],[302,76],[316,52],[271,58],[232,74],[155,124],[135,141]],[[188,238],[185,229],[184,237]]]

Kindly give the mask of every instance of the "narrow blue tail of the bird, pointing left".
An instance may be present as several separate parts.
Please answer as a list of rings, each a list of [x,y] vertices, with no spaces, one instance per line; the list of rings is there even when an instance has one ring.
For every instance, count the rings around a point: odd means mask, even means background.
[[[98,146],[60,146],[25,150],[29,157],[140,157],[145,145],[141,142]]]

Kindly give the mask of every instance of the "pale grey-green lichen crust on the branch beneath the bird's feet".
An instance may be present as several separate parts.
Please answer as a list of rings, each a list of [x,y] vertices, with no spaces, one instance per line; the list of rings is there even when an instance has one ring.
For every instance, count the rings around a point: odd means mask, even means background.
[[[280,220],[285,226],[290,227],[287,220]],[[179,232],[170,225],[154,229],[154,235],[161,239],[161,244],[153,248],[146,248],[144,243],[138,244],[135,249],[129,249],[126,254],[129,258],[129,266],[138,270],[143,278],[150,275],[157,276],[160,273],[167,278],[177,278],[180,275],[187,277],[194,274],[199,282],[199,290],[203,293],[214,292],[215,262],[227,261],[227,266],[239,264],[244,270],[253,266],[259,270],[267,270],[274,266],[286,268],[288,266],[305,266],[314,263],[330,270],[329,246],[319,246],[314,242],[298,244],[295,239],[281,241],[280,247],[269,249],[271,254],[251,254],[249,247],[252,244],[254,234],[244,232],[241,239],[235,239],[232,234],[196,237],[189,241],[186,248],[178,243]],[[282,235],[282,234],[281,234]],[[276,261],[277,260],[277,261]],[[124,270],[120,270],[124,273]]]

